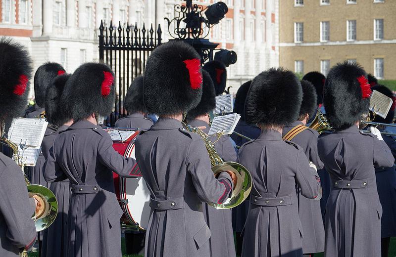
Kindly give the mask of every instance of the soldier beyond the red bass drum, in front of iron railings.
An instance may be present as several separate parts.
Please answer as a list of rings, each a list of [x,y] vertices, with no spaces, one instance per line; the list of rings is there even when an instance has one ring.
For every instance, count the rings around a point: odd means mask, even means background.
[[[143,101],[144,77],[136,77],[125,95],[124,108],[128,111],[128,116],[118,119],[115,122],[116,128],[139,128],[147,130],[151,128],[153,122],[146,118],[147,108]]]

